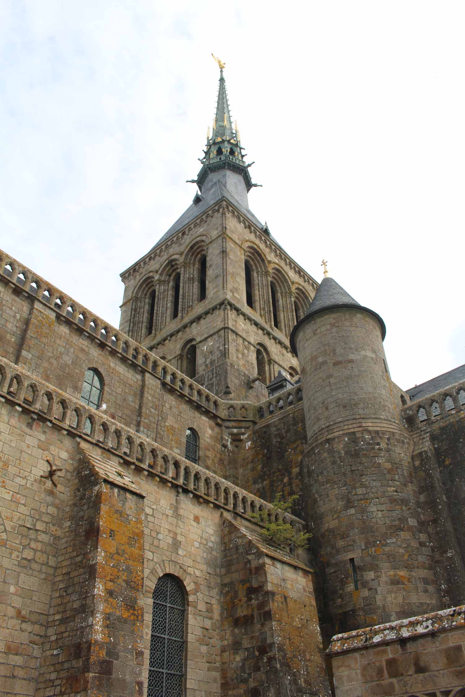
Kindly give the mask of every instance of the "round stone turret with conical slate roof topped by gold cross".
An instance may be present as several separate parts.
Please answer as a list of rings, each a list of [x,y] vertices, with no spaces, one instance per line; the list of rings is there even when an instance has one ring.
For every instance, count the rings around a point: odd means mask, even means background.
[[[291,333],[308,442],[308,516],[326,618],[351,631],[441,608],[381,317],[330,277]]]

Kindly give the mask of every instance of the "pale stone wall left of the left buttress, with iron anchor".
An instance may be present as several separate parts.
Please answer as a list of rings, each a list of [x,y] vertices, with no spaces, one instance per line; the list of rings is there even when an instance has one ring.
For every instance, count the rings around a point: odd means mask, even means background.
[[[47,629],[75,442],[0,402],[0,683],[32,695]],[[54,487],[49,459],[61,472]]]

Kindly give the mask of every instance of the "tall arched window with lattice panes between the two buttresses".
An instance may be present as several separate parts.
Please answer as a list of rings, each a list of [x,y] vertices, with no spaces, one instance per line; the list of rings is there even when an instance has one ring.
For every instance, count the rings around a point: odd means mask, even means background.
[[[176,576],[153,589],[147,697],[181,697],[185,675],[185,593]]]

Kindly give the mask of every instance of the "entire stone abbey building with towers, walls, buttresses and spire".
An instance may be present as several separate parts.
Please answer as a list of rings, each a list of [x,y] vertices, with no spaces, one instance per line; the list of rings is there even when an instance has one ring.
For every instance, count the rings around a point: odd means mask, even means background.
[[[119,328],[0,252],[0,694],[464,697],[465,366],[399,388],[257,220],[218,63]]]

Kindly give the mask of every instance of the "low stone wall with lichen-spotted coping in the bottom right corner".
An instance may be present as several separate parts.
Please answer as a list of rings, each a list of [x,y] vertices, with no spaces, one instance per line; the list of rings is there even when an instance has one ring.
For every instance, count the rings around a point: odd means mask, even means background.
[[[336,634],[336,697],[463,697],[465,606]]]

